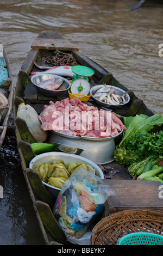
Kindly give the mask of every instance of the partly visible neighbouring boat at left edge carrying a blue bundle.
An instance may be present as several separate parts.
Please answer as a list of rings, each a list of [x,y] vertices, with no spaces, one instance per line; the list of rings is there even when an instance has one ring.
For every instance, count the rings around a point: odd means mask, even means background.
[[[10,63],[3,45],[0,43],[0,148],[8,129],[14,96]]]

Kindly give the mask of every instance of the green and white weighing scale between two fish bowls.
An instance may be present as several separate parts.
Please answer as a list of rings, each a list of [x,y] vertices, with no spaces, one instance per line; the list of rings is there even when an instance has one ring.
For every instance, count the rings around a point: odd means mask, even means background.
[[[87,68],[87,66],[72,66],[72,72],[74,73],[71,93],[87,95],[90,92],[89,77],[94,75],[95,72]]]

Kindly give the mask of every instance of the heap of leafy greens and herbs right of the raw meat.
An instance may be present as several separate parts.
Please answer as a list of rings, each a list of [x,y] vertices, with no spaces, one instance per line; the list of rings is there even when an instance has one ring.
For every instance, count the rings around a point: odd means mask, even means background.
[[[152,117],[144,114],[124,117],[124,125],[127,130],[123,131],[122,141],[115,150],[115,161],[129,165],[146,157],[159,158],[162,156],[162,131],[148,133],[154,125],[160,126],[162,123],[163,117],[160,114],[152,115]]]

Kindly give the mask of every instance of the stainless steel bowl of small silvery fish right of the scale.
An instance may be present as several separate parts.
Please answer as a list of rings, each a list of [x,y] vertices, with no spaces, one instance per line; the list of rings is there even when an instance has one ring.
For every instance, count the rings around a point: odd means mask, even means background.
[[[93,86],[93,87],[90,89],[91,97],[92,97],[92,99],[97,103],[97,105],[102,106],[102,107],[109,107],[110,109],[117,109],[117,108],[120,108],[120,107],[126,105],[126,104],[129,102],[130,96],[128,95],[128,93],[126,94],[126,97],[127,97],[126,103],[119,104],[119,105],[111,105],[111,104],[102,102],[102,101],[100,101],[100,100],[97,100],[93,95],[94,95],[94,94],[96,93],[96,91],[97,91],[99,88],[101,88],[102,86],[104,86],[104,84],[99,84],[99,86]],[[108,87],[108,88],[109,88],[110,86],[111,86],[111,85],[106,85],[106,87]],[[117,95],[122,96],[122,95],[125,93],[125,91],[122,90],[121,88],[118,88],[118,87],[115,87],[115,86],[111,86],[111,87],[115,89]]]

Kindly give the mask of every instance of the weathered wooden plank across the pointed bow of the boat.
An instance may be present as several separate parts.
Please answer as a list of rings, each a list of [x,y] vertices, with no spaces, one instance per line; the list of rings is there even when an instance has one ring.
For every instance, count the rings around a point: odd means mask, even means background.
[[[40,50],[55,50],[54,45],[59,51],[79,51],[75,45],[71,44],[71,42],[65,39],[37,38],[34,40],[31,48]]]

